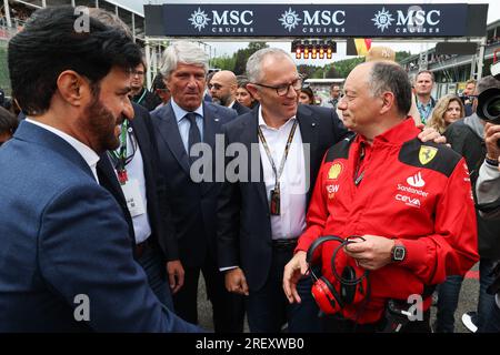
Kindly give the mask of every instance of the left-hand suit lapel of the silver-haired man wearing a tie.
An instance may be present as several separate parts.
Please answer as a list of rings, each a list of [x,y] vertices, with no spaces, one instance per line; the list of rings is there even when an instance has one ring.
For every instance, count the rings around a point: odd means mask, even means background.
[[[182,170],[189,175],[189,158],[179,133],[176,114],[170,102],[164,106],[164,113],[159,114],[159,131],[163,142],[176,156]]]

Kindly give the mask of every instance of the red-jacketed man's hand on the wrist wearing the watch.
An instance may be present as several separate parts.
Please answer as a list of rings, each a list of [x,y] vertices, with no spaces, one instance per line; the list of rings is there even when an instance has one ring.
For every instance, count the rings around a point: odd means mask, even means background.
[[[346,245],[346,254],[356,258],[359,266],[366,270],[379,270],[391,263],[394,241],[384,236],[363,235],[359,242]]]

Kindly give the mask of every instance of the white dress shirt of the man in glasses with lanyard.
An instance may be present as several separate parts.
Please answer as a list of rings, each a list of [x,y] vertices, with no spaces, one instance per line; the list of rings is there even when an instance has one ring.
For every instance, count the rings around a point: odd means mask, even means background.
[[[279,129],[270,128],[262,118],[262,109],[259,106],[259,126],[279,170],[284,154],[288,136],[297,118],[291,118]],[[268,202],[271,190],[274,189],[276,176],[269,162],[268,154],[259,139],[260,160],[262,162],[263,179]],[[280,178],[280,215],[271,215],[272,239],[298,237],[306,229],[306,160],[302,148],[300,126],[297,124],[296,134],[288,153],[283,172]]]

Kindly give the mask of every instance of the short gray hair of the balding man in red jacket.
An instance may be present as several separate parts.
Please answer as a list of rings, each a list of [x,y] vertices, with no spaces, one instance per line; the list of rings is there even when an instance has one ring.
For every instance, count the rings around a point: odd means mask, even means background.
[[[374,62],[368,75],[368,84],[373,97],[381,95],[384,91],[392,92],[398,112],[407,116],[411,108],[411,83],[408,73],[400,65],[387,61]]]

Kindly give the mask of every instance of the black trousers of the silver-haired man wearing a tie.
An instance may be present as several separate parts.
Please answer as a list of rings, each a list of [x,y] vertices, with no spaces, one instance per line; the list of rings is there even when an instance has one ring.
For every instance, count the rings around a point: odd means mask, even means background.
[[[224,275],[214,261],[207,257],[201,267],[184,266],[184,285],[173,295],[176,314],[198,324],[198,281],[203,273],[207,295],[212,305],[216,333],[242,333],[244,322],[243,296],[230,293],[224,286]]]

